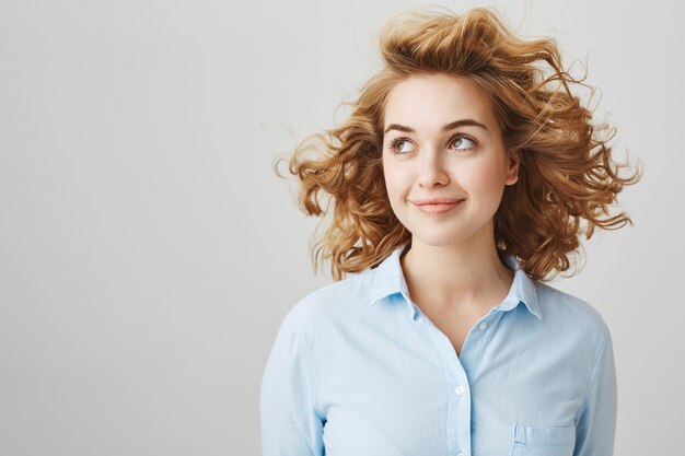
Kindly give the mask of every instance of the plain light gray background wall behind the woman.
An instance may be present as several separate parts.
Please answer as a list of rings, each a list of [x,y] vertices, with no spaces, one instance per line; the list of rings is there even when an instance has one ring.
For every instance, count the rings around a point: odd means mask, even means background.
[[[278,326],[330,281],[271,163],[344,117],[380,26],[420,4],[0,0],[1,455],[259,454]],[[683,7],[480,4],[587,60],[617,157],[645,164],[635,227],[554,285],[612,329],[616,454],[676,455]]]

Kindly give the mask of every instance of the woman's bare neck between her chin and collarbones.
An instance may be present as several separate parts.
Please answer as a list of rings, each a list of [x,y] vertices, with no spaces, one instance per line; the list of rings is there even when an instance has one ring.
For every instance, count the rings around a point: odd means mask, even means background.
[[[507,296],[513,281],[513,271],[497,255],[492,230],[442,246],[415,236],[400,265],[411,300],[440,312],[490,308]]]

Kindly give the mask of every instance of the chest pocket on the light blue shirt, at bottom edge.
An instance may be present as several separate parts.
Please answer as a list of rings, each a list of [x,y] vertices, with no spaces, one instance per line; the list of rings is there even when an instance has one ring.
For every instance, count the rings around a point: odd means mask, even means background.
[[[511,456],[571,456],[576,446],[576,426],[514,428]]]

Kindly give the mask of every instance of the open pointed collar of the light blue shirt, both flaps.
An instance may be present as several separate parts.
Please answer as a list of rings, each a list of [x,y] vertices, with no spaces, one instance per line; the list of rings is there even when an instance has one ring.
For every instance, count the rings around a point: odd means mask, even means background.
[[[397,247],[372,270],[372,284],[369,295],[370,305],[374,305],[382,299],[396,293],[402,293],[405,299],[409,296],[407,282],[405,281],[399,262],[399,256],[406,247],[406,245]],[[537,303],[535,282],[521,269],[521,265],[513,256],[506,258],[506,261],[514,271],[514,278],[509,293],[496,308],[508,312],[515,308],[519,303],[523,303],[531,314],[535,315],[537,319],[542,319],[543,316]]]

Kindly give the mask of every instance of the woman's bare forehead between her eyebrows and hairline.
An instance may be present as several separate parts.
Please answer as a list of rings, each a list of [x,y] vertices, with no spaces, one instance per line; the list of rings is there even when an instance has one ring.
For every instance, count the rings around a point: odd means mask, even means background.
[[[399,82],[388,94],[383,117],[384,128],[402,124],[418,131],[465,118],[496,127],[487,93],[468,78],[449,74],[413,75]]]

